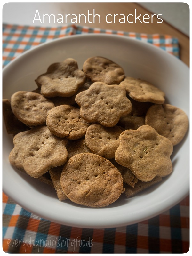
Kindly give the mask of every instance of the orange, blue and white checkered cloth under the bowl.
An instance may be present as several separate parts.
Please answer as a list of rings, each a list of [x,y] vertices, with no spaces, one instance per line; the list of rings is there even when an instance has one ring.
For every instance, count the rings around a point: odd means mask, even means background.
[[[58,28],[4,24],[3,66],[45,41],[82,33],[129,36],[179,57],[177,39],[167,35],[128,33],[70,24]],[[189,197],[170,210],[140,223],[91,229],[45,220],[26,211],[3,193],[3,250],[7,253],[186,253],[189,250]]]

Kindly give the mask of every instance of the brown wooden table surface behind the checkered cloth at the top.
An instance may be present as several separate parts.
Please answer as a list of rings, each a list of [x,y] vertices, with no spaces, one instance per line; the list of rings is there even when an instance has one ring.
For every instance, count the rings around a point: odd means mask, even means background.
[[[180,44],[180,59],[189,66],[189,37],[184,35],[178,29],[169,25],[166,21],[163,20],[162,23],[157,23],[156,21],[160,21],[153,17],[153,23],[140,23],[139,20],[135,23],[119,23],[118,16],[115,23],[107,23],[105,21],[105,17],[107,14],[134,14],[135,9],[137,15],[141,14],[149,14],[151,16],[151,12],[140,6],[138,3],[62,3],[62,10],[60,13],[65,14],[87,14],[88,10],[90,13],[93,13],[93,9],[95,9],[95,14],[99,14],[101,19],[99,23],[99,19],[97,16],[95,17],[95,23],[84,23],[83,18],[81,20],[80,25],[88,26],[91,28],[102,28],[102,29],[112,29],[112,30],[120,30],[126,32],[138,32],[138,33],[147,33],[147,34],[167,34],[173,37],[178,38]],[[158,14],[158,13],[156,13]],[[142,17],[141,16],[141,17]],[[72,16],[73,17],[73,16]],[[90,16],[91,17],[91,16]],[[123,16],[119,16],[122,18]],[[163,16],[161,16],[163,18]],[[58,17],[59,18],[59,17]],[[74,17],[73,17],[74,18]],[[111,18],[111,16],[109,17]],[[131,18],[131,17],[130,17]],[[112,19],[110,19],[111,21]],[[91,21],[91,19],[90,19]]]

